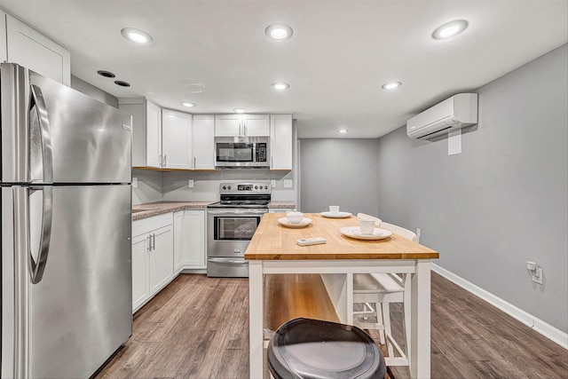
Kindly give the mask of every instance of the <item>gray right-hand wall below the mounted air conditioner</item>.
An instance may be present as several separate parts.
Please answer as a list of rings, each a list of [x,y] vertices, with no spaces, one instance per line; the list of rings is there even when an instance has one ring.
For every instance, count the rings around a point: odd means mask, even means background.
[[[379,139],[379,216],[440,252],[450,272],[568,331],[566,45],[488,83],[462,153],[404,127]],[[489,63],[490,64],[490,63]],[[544,268],[531,281],[526,261]]]

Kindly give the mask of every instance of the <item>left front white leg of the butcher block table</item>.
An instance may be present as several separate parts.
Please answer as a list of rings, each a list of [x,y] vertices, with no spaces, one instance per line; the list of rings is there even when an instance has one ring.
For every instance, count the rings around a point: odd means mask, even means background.
[[[263,377],[264,328],[263,262],[248,261],[248,320],[250,345],[250,378]]]

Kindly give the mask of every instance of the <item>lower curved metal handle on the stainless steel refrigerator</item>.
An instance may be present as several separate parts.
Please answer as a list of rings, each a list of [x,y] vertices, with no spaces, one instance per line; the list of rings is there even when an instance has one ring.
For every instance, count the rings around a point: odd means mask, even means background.
[[[50,250],[53,190],[51,186],[42,186],[41,188],[32,187],[31,190],[42,191],[43,194],[42,233],[40,235],[40,241],[38,247],[39,251],[37,253],[37,259],[36,260],[34,259],[34,256],[32,255],[31,251],[29,252],[30,279],[33,284],[37,284],[43,278],[43,272],[45,271],[45,264],[47,263],[47,254]],[[30,194],[31,192],[28,193],[28,199]],[[28,230],[28,241],[29,238],[30,236]]]

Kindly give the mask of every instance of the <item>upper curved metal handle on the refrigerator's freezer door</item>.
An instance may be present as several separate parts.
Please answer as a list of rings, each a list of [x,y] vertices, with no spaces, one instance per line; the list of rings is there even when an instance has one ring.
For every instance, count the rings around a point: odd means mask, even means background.
[[[53,161],[51,158],[51,132],[50,120],[47,114],[47,107],[43,100],[42,89],[36,84],[30,85],[32,99],[29,103],[29,111],[32,112],[36,107],[39,131],[42,139],[42,160],[43,160],[43,183],[53,183]]]

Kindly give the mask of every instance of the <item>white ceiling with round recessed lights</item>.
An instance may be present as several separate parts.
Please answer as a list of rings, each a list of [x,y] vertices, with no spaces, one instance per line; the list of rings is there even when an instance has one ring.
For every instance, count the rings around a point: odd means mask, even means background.
[[[72,74],[115,97],[182,111],[188,100],[201,114],[292,113],[300,138],[380,137],[568,42],[568,0],[0,0],[0,8],[65,45]],[[469,21],[460,36],[431,37],[456,19]],[[294,36],[269,40],[264,28],[274,22]],[[125,27],[154,43],[124,40]],[[393,80],[403,85],[381,90]],[[289,90],[273,91],[277,81]]]

